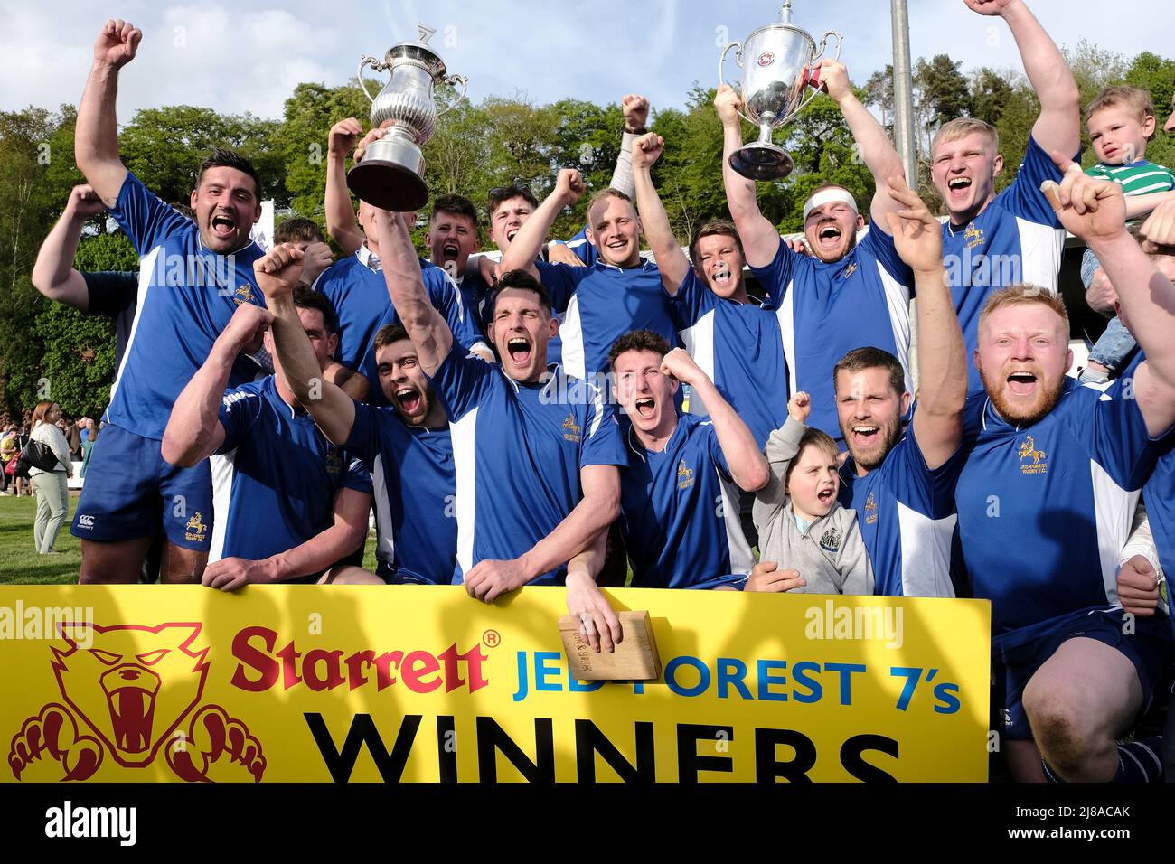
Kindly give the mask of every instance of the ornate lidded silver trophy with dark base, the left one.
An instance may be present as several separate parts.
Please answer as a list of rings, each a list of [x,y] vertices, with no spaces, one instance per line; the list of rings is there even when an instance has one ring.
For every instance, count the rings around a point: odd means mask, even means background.
[[[363,160],[347,173],[347,185],[363,201],[385,210],[407,213],[428,202],[421,147],[432,138],[437,118],[464,99],[469,86],[469,79],[446,74],[444,61],[427,45],[431,34],[422,26],[419,41],[392,46],[383,62],[374,56],[360,61],[360,86],[371,100],[371,126],[388,126],[388,132],[372,141]],[[365,66],[391,73],[374,99],[363,83]],[[457,99],[441,112],[434,98],[438,83],[461,85]]]

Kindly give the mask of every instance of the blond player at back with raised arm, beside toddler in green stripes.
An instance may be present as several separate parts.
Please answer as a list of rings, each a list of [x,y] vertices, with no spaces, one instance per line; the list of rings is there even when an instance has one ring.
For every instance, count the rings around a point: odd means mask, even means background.
[[[1073,156],[1080,150],[1081,107],[1065,56],[1023,0],[965,2],[981,15],[996,15],[1007,22],[1028,83],[1040,100],[1023,162],[999,195],[995,178],[1003,169],[1003,158],[995,127],[960,118],[945,123],[931,145],[931,178],[949,214],[942,225],[947,277],[971,356],[979,313],[993,290],[1034,284],[1056,293],[1065,232],[1040,185],[1061,179],[1050,152]],[[972,367],[969,391],[982,389],[979,370]]]

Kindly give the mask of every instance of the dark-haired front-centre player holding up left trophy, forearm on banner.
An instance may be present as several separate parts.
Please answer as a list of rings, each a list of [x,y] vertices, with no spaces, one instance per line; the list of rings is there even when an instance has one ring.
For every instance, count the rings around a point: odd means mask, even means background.
[[[546,366],[558,330],[543,286],[508,273],[494,299],[490,337],[501,364],[452,340],[428,302],[403,219],[376,213],[381,246],[401,250],[388,289],[424,373],[449,415],[457,493],[457,569],[485,602],[525,584],[568,587],[568,607],[595,644],[619,639],[619,623],[591,578],[569,570],[580,554],[603,564],[604,531],[619,513],[625,462],[615,411],[596,388]],[[418,269],[418,268],[417,268]]]

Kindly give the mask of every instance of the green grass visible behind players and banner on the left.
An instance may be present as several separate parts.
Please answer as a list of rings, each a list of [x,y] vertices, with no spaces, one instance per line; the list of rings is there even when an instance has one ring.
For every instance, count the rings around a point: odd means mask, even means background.
[[[78,582],[81,548],[78,538],[69,534],[78,495],[69,494],[69,510],[55,544],[58,555],[38,555],[33,549],[36,498],[0,495],[0,584],[48,585]],[[363,567],[375,570],[375,533],[368,535]]]

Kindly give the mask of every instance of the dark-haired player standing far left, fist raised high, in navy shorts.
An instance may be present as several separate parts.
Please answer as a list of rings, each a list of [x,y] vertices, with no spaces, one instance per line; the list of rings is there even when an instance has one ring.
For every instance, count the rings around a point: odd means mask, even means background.
[[[189,202],[193,221],[119,158],[118,78],[141,38],[127,21],[102,26],[78,108],[78,167],[140,255],[134,326],[70,528],[81,541],[82,583],[136,582],[160,529],[167,536],[161,581],[200,581],[212,538],[209,467],[175,468],[160,442],[176,396],[235,309],[264,304],[253,277],[262,252],[249,233],[261,217],[261,189],[249,161],[220,149],[204,160]],[[260,346],[260,334],[255,340],[247,348]],[[239,357],[229,381],[244,383],[256,371]]]

